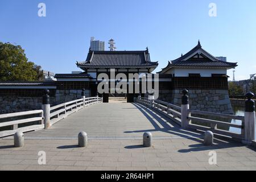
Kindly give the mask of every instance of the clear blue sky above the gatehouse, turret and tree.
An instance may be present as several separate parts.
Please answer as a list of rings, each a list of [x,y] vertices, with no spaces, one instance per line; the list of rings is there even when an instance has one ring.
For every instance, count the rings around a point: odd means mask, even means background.
[[[38,16],[40,2],[46,17]],[[217,17],[208,15],[212,2]],[[214,56],[238,62],[237,80],[256,73],[255,0],[0,0],[0,22],[0,42],[22,46],[30,61],[55,73],[79,71],[91,36],[113,38],[118,50],[148,47],[156,71],[200,39]]]

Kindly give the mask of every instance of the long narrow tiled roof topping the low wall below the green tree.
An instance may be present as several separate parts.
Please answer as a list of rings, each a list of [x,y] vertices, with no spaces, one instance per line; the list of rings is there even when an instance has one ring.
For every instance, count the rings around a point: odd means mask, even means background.
[[[0,82],[0,86],[52,86],[56,85],[55,81],[28,81],[28,82],[18,82],[18,81],[5,81]]]

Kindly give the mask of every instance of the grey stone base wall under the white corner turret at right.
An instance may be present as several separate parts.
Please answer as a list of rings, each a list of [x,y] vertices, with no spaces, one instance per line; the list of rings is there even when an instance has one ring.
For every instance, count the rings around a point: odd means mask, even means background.
[[[183,89],[171,90],[164,94],[159,90],[160,100],[170,102],[177,106],[181,105],[181,92]],[[229,100],[228,90],[210,90],[210,89],[190,89],[189,90],[190,109],[209,111],[214,113],[233,114],[232,105]]]

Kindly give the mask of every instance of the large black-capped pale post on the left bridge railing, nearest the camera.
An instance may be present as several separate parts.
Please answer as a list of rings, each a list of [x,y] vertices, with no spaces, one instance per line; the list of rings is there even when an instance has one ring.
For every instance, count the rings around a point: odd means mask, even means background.
[[[44,129],[51,127],[50,123],[50,104],[49,104],[49,90],[44,90],[42,110],[44,111]]]

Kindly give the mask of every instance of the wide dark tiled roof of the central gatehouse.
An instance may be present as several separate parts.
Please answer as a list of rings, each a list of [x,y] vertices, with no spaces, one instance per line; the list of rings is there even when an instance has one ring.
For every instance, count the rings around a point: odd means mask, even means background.
[[[151,62],[146,51],[89,51],[84,62],[77,62],[78,67],[89,68],[151,68],[158,62]]]

